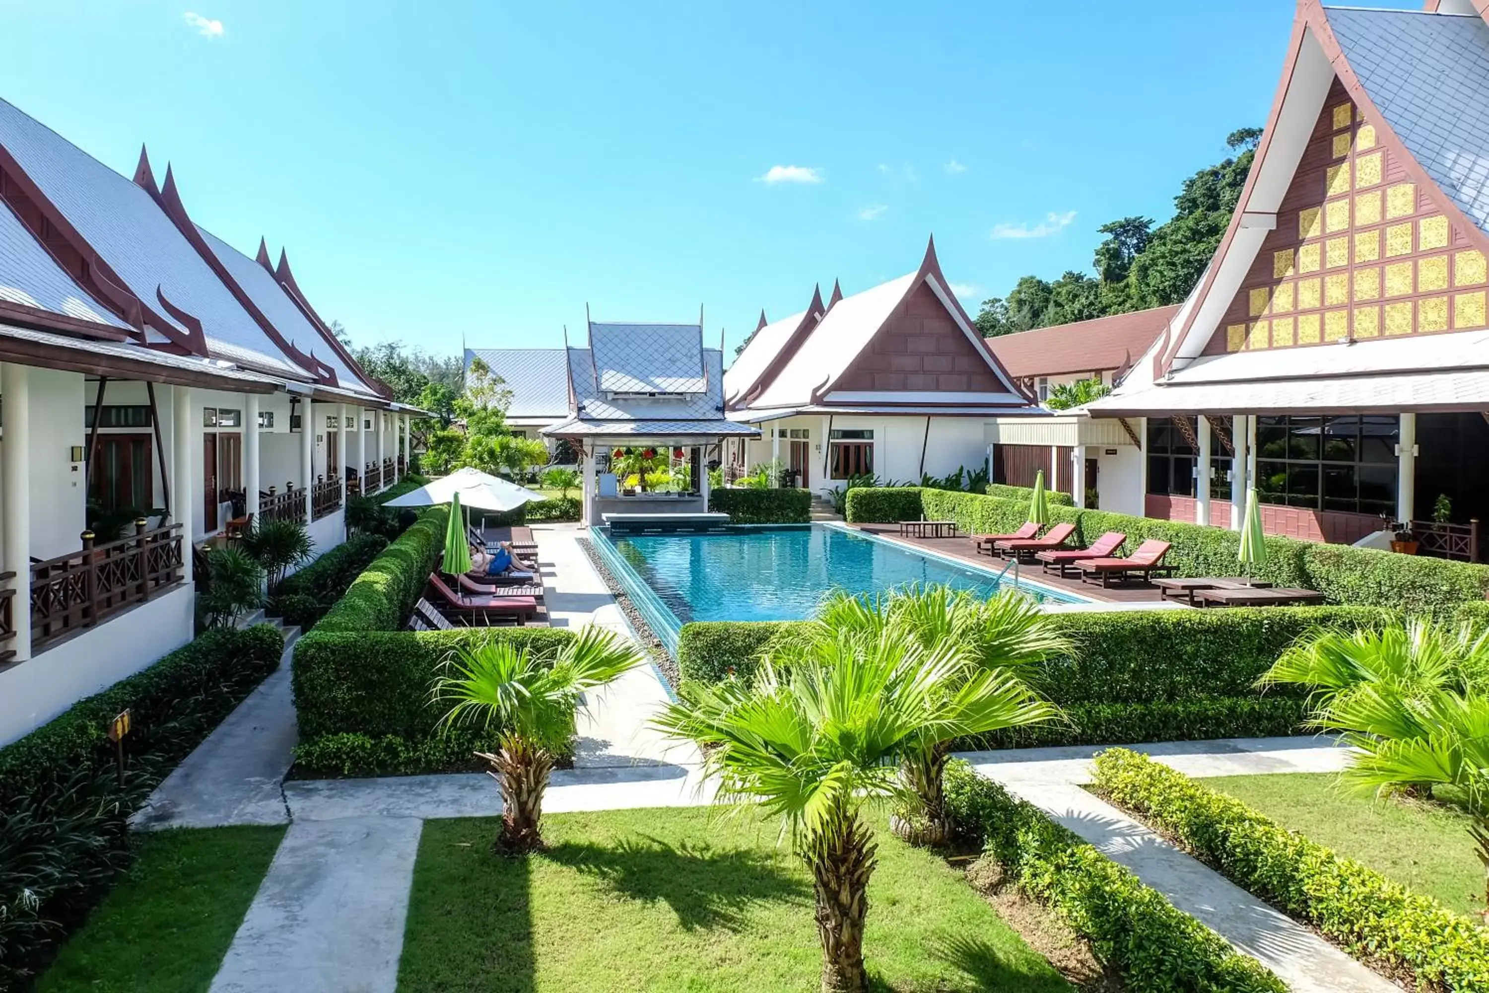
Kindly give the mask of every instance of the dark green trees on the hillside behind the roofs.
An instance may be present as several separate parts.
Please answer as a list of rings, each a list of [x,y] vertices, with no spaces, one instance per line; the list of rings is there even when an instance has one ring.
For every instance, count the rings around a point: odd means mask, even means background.
[[[1231,155],[1184,180],[1173,217],[1157,228],[1142,216],[1102,225],[1094,277],[1074,269],[1053,281],[1024,275],[1007,296],[983,301],[978,331],[996,338],[1182,301],[1225,234],[1260,140],[1261,128],[1231,131]]]

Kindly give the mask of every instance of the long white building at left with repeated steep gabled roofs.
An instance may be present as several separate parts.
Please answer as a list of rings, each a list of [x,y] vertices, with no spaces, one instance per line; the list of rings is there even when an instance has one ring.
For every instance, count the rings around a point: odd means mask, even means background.
[[[194,551],[252,517],[344,540],[404,470],[389,400],[301,292],[0,101],[0,743],[194,633]],[[344,485],[345,481],[345,485]]]

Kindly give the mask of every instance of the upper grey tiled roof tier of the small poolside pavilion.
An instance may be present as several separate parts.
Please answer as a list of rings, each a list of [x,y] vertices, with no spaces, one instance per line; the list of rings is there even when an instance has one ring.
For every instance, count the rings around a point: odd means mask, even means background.
[[[616,393],[703,393],[698,325],[590,323],[600,389]]]

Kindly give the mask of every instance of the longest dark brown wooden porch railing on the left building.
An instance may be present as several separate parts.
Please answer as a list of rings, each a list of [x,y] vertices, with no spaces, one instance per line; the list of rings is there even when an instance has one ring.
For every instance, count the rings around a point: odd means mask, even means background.
[[[31,564],[31,651],[92,627],[182,579],[182,526],[146,530]]]

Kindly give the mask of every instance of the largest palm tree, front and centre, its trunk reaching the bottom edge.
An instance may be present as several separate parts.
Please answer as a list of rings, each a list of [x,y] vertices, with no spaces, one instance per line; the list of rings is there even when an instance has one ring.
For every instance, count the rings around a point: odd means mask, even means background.
[[[902,798],[898,767],[928,740],[977,734],[1023,706],[965,648],[896,631],[817,627],[782,643],[750,680],[683,683],[657,719],[697,741],[719,798],[780,816],[807,863],[822,941],[822,990],[862,993],[864,923],[877,846],[865,807]]]

